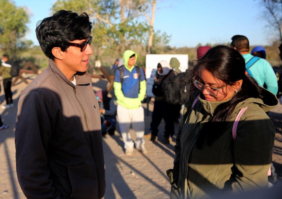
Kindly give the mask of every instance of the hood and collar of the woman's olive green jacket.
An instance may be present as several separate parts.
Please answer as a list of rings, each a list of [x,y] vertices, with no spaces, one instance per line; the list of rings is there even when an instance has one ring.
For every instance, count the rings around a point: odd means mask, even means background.
[[[226,101],[218,101],[218,102],[207,101],[204,99],[204,96],[202,96],[201,91],[199,90],[195,91],[196,96],[199,94],[200,94],[199,101],[201,101],[203,108],[205,109],[205,111],[211,113],[212,115],[214,113],[214,110],[219,104],[226,102]],[[244,101],[239,102],[234,109],[234,113],[237,114],[237,112],[242,108],[255,106],[256,104],[259,105],[264,112],[268,112],[278,104],[278,100],[276,96],[273,95],[270,91],[262,88],[262,92],[259,98],[248,98],[245,99]]]

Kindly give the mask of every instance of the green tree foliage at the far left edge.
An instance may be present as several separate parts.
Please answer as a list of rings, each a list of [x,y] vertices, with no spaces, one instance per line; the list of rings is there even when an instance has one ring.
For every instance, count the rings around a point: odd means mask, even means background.
[[[26,7],[17,7],[13,1],[0,1],[0,47],[4,53],[16,57],[23,50],[21,38],[28,30],[29,14]]]

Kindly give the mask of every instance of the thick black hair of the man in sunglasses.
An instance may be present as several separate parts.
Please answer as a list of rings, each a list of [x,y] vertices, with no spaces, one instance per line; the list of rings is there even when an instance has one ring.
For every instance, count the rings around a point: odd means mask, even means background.
[[[52,54],[54,47],[66,51],[70,41],[88,39],[91,29],[92,23],[85,12],[78,16],[72,11],[60,10],[53,16],[37,22],[36,37],[43,53],[54,59]]]

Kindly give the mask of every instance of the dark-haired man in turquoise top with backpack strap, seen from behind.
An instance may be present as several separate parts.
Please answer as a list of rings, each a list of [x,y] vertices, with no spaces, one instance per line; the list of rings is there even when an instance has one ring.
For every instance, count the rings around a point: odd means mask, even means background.
[[[231,48],[239,51],[239,53],[245,59],[245,62],[251,60],[254,56],[249,53],[249,40],[247,37],[243,35],[235,35],[232,38],[232,42],[230,44]],[[274,73],[272,66],[268,61],[263,58],[258,59],[250,68],[249,75],[251,75],[259,86],[263,87],[266,85],[266,89],[273,93],[274,95],[278,92],[278,83],[277,77]]]

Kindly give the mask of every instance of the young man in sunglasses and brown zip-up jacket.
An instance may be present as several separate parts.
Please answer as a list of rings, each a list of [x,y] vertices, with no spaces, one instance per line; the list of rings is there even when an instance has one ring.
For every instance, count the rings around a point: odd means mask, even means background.
[[[87,73],[92,24],[58,11],[36,28],[49,66],[21,93],[16,169],[27,198],[103,198],[99,106]]]

